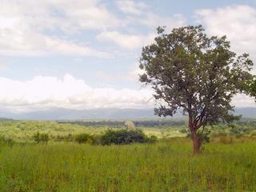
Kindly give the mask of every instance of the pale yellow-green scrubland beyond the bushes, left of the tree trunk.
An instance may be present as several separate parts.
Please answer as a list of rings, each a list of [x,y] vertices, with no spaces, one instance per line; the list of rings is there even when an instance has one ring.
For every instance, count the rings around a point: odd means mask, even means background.
[[[180,122],[184,125],[184,120]],[[104,134],[106,130],[125,129],[124,122],[118,122],[120,126],[109,126],[101,123],[100,126],[94,126],[94,122],[86,122],[83,125],[81,122],[40,122],[40,121],[11,121],[0,122],[0,135],[5,138],[11,138],[16,142],[31,142],[34,141],[34,134],[48,134],[50,141],[71,141],[74,140],[76,134]],[[113,128],[114,127],[114,128]],[[185,137],[186,134],[181,134],[179,130],[185,126],[162,126],[159,129],[156,126],[141,126],[137,127],[143,130],[147,136],[155,135],[158,138],[162,137],[162,130],[165,130],[165,135],[170,137]],[[168,136],[168,137],[169,137]]]

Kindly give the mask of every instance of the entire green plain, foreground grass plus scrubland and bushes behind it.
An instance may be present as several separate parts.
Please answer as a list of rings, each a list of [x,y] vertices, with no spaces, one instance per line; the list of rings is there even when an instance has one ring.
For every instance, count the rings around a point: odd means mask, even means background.
[[[110,128],[0,122],[0,191],[256,190],[253,118],[205,131],[194,157],[186,126]]]

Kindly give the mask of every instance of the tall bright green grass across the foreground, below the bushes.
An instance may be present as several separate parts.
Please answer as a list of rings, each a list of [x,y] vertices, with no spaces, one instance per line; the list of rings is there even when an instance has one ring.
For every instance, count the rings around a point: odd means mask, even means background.
[[[256,142],[0,147],[0,191],[255,191]]]

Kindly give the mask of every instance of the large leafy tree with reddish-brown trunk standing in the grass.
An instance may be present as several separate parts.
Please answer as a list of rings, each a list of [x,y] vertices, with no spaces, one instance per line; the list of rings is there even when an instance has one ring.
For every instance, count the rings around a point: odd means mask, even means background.
[[[170,34],[158,27],[154,43],[142,48],[140,81],[154,89],[155,114],[172,116],[181,108],[188,116],[198,154],[206,125],[239,118],[230,102],[251,81],[252,66],[248,54],[237,57],[230,50],[226,36],[207,37],[202,26],[183,26]]]

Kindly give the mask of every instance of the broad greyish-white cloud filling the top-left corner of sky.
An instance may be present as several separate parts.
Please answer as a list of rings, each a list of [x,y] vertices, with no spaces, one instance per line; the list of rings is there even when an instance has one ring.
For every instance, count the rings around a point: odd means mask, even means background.
[[[119,26],[119,19],[98,0],[3,0],[0,15],[10,21],[21,19],[35,30],[106,29]]]

